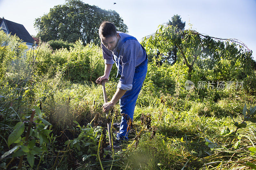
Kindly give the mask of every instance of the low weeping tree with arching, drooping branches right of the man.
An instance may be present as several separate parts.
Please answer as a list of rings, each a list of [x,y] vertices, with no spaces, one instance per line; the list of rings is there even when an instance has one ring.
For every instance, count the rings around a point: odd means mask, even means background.
[[[224,41],[226,42],[224,43]],[[195,30],[181,30],[176,32],[175,27],[164,27],[164,25],[160,26],[156,33],[144,37],[142,43],[147,44],[148,50],[157,48],[163,53],[169,50],[167,44],[176,46],[186,66],[189,68],[189,78],[191,78],[191,71],[198,60],[198,56],[202,56],[204,59],[210,57],[215,64],[218,64],[221,59],[231,58],[232,65],[232,63],[235,63],[237,60],[237,57],[234,58],[232,56],[239,55],[243,63],[245,60],[248,60],[252,54],[252,51],[249,50],[242,41],[237,39],[211,37],[206,34],[198,33]],[[238,45],[240,50],[238,50]],[[216,49],[220,50],[220,54],[216,53]],[[191,64],[189,61],[191,61]]]

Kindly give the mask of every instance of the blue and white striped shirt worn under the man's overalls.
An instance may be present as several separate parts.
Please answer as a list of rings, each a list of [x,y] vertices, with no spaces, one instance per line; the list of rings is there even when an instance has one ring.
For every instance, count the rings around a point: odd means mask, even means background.
[[[117,46],[125,37],[130,37],[130,35],[122,32],[119,33],[120,40],[118,41]],[[105,64],[114,64],[113,55],[118,55],[116,48],[113,52],[106,48],[102,43],[102,52]],[[135,72],[135,68],[139,66],[142,62],[146,60],[146,52],[142,49],[139,41],[137,40],[127,40],[120,48],[119,52],[119,74],[121,75],[117,87],[122,90],[131,90],[132,89],[132,80]],[[116,63],[118,68],[118,63]]]

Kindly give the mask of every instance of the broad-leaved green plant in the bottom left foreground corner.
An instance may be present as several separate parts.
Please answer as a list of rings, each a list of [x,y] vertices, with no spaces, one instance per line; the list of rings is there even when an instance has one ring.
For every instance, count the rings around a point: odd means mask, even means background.
[[[11,161],[15,157],[20,157],[18,169],[21,168],[24,157],[27,158],[31,168],[34,166],[35,155],[47,151],[46,144],[51,142],[50,133],[52,130],[50,129],[52,124],[44,120],[42,115],[43,113],[39,107],[35,107],[30,116],[24,116],[24,119],[29,119],[29,121],[18,122],[14,126],[12,133],[8,137],[7,144],[8,146],[15,146],[10,151],[5,152],[0,160],[13,153]]]

